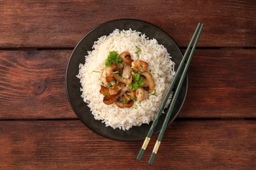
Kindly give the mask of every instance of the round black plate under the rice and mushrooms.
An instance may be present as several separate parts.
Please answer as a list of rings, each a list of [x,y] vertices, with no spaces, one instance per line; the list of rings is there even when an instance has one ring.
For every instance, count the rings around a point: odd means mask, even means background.
[[[121,20],[113,20],[110,22],[106,22],[102,25],[99,25],[85,37],[78,42],[77,46],[75,46],[74,51],[70,57],[70,61],[68,62],[68,67],[66,71],[66,91],[68,93],[68,99],[70,100],[70,104],[77,115],[77,117],[85,124],[85,126],[89,127],[89,129],[98,133],[98,135],[102,135],[108,139],[114,139],[117,141],[137,141],[140,139],[144,139],[150,129],[151,124],[143,124],[139,127],[132,127],[128,131],[123,131],[121,129],[113,129],[112,127],[106,127],[104,123],[99,120],[95,120],[93,114],[89,107],[87,107],[86,103],[83,102],[83,99],[80,97],[80,83],[79,79],[75,76],[79,71],[79,63],[85,63],[85,56],[87,55],[87,51],[92,50],[93,43],[98,40],[102,35],[109,35],[114,31],[114,29],[133,29],[136,31],[140,31],[144,33],[150,39],[156,39],[160,44],[163,44],[165,48],[167,48],[169,54],[172,56],[172,60],[175,62],[175,70],[179,67],[179,63],[182,59],[181,51],[179,47],[173,41],[173,39],[165,33],[160,27],[156,25],[150,24],[148,22],[144,22],[142,20],[134,20],[134,19],[121,19]],[[179,80],[179,79],[178,79]],[[174,87],[175,91],[176,86]],[[184,83],[181,88],[181,92],[179,93],[179,97],[177,99],[175,108],[169,120],[169,124],[173,122],[181,107],[184,103],[184,99],[186,97],[186,92],[188,89],[188,76],[186,76]],[[167,111],[167,110],[166,110]],[[163,120],[165,118],[165,114],[162,114],[158,126],[156,126],[154,130],[154,134],[156,134],[161,129],[161,124],[163,124]]]

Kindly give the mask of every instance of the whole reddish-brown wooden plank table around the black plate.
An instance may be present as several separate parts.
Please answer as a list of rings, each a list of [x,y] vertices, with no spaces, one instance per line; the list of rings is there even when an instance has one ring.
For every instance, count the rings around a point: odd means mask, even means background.
[[[256,2],[1,1],[0,168],[255,169]],[[205,24],[189,68],[179,117],[167,128],[153,165],[156,137],[105,139],[75,116],[65,88],[75,44],[103,22],[156,24],[184,52]]]

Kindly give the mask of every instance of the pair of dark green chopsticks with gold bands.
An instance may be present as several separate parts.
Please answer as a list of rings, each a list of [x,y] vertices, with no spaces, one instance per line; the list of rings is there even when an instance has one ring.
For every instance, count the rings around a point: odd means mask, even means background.
[[[196,31],[194,32],[194,35],[190,41],[190,43],[188,44],[188,48],[186,49],[186,52],[181,60],[181,63],[177,69],[177,72],[173,78],[173,81],[171,82],[171,85],[169,86],[168,90],[167,90],[167,93],[165,95],[165,98],[163,99],[163,103],[161,103],[161,106],[160,106],[160,109],[158,110],[158,113],[156,114],[156,118],[154,120],[154,122],[152,123],[152,126],[150,127],[150,130],[148,131],[148,135],[146,137],[146,139],[144,140],[144,143],[142,144],[142,148],[140,149],[140,152],[139,152],[139,155],[137,156],[137,160],[141,160],[142,158],[142,155],[144,154],[144,151],[146,150],[146,147],[148,146],[148,143],[150,141],[150,137],[152,137],[153,135],[153,131],[154,131],[154,128],[156,127],[156,125],[158,124],[158,119],[160,118],[161,116],[161,113],[163,112],[163,109],[165,107],[165,104],[167,103],[167,100],[169,98],[169,95],[171,94],[172,90],[173,90],[173,86],[181,72],[181,69],[182,69],[182,66],[185,64],[185,60],[186,60],[186,56],[188,56],[188,52],[190,51],[190,48],[192,46],[192,43],[194,42],[194,46],[192,47],[192,50],[191,50],[191,53],[190,53],[190,56],[188,57],[188,60],[186,62],[186,66],[184,67],[184,70],[182,72],[182,75],[181,75],[181,79],[179,81],[179,84],[177,86],[177,89],[176,89],[176,92],[175,94],[173,95],[173,99],[171,101],[171,105],[167,111],[167,116],[165,117],[165,120],[163,122],[163,126],[161,127],[161,131],[160,131],[160,134],[158,135],[158,139],[156,141],[156,144],[154,146],[154,149],[152,151],[152,154],[150,156],[150,160],[148,161],[148,163],[150,165],[152,165],[153,161],[154,161],[154,158],[156,156],[156,153],[158,152],[158,148],[160,146],[160,143],[161,143],[161,140],[163,139],[163,134],[165,133],[165,129],[167,127],[167,124],[169,122],[169,119],[171,117],[171,112],[173,112],[173,108],[174,108],[174,105],[177,101],[177,97],[179,95],[179,92],[181,90],[181,86],[182,86],[182,83],[183,83],[183,80],[186,76],[186,73],[188,71],[188,66],[190,64],[190,61],[192,59],[192,56],[194,55],[194,51],[196,49],[196,45],[198,44],[198,40],[200,38],[200,35],[202,33],[202,29],[203,29],[203,24],[198,24],[198,27],[196,27]],[[194,41],[194,39],[196,38],[196,40]]]

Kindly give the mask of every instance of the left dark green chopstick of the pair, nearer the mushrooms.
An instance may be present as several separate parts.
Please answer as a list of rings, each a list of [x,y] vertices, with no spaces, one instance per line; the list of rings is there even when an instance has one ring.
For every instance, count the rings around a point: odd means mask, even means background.
[[[192,46],[192,42],[194,42],[194,39],[195,39],[196,34],[198,33],[199,29],[200,29],[200,24],[198,24],[198,27],[196,27],[196,31],[194,32],[194,35],[193,35],[190,43],[188,44],[188,48],[186,49],[184,57],[181,60],[181,63],[179,65],[178,69],[177,69],[177,72],[176,72],[176,74],[175,74],[175,76],[173,78],[173,81],[171,82],[171,85],[169,86],[169,88],[167,90],[165,98],[163,99],[163,103],[161,103],[160,109],[158,110],[158,113],[156,114],[156,118],[155,118],[154,122],[152,123],[152,126],[150,127],[150,130],[148,131],[148,135],[147,135],[146,139],[144,140],[144,143],[142,144],[142,148],[140,149],[139,155],[137,156],[137,160],[141,160],[141,158],[142,158],[142,156],[144,154],[144,151],[146,150],[146,147],[148,146],[148,143],[150,141],[150,137],[152,137],[154,128],[158,124],[158,119],[160,118],[161,113],[163,112],[163,108],[165,107],[165,104],[167,103],[169,95],[171,94],[171,92],[173,90],[173,86],[174,86],[174,84],[175,84],[175,82],[176,82],[176,80],[178,78],[179,73],[181,72],[182,65],[184,64],[184,62],[186,60],[186,56],[188,55],[188,52],[189,52],[189,50],[190,50],[190,48]]]

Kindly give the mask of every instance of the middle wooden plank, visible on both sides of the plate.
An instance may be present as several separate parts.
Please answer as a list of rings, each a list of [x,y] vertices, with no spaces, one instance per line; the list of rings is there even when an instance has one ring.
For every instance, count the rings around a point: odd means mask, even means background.
[[[76,118],[65,88],[71,50],[0,51],[0,119]],[[255,118],[256,49],[196,50],[180,118]]]

